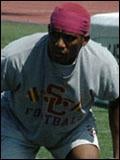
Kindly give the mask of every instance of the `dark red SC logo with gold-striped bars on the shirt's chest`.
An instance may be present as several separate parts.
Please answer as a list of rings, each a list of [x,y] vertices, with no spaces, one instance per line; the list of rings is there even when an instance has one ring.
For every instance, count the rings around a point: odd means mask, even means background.
[[[63,86],[58,86],[55,84],[48,85],[46,91],[38,92],[37,88],[33,87],[28,91],[28,96],[33,103],[39,101],[39,96],[42,95],[45,102],[47,102],[47,111],[53,115],[63,116],[66,111],[65,108],[68,108],[69,111],[77,111],[84,113],[82,109],[82,98],[80,102],[74,102],[73,100],[63,97],[66,89]],[[63,110],[59,110],[57,107],[63,106]],[[38,115],[39,112],[36,112],[35,115]]]

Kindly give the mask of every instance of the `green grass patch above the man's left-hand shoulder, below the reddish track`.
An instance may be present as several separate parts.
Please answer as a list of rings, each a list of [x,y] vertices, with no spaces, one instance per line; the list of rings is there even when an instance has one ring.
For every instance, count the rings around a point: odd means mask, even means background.
[[[9,42],[18,39],[20,37],[36,32],[45,32],[45,31],[47,31],[47,25],[2,22],[1,47],[3,48]]]

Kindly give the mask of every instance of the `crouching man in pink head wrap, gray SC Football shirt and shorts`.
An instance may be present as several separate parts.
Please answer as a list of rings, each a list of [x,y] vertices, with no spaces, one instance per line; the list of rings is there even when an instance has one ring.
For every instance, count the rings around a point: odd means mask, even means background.
[[[64,3],[53,11],[48,35],[2,50],[2,158],[34,159],[44,146],[58,159],[98,159],[95,96],[112,104],[113,150],[119,157],[118,65],[89,39],[89,29],[86,9]]]

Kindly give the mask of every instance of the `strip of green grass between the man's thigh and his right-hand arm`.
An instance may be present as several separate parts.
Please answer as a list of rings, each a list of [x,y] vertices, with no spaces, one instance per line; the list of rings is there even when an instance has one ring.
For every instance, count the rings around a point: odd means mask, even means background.
[[[93,112],[96,116],[101,158],[112,157],[112,141],[108,122],[108,111],[104,108],[93,107]]]

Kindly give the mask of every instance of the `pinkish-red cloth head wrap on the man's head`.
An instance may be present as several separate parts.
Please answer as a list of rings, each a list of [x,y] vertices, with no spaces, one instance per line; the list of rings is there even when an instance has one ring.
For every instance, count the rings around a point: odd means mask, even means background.
[[[51,14],[50,24],[64,32],[89,35],[90,14],[78,3],[67,2],[57,6]]]

